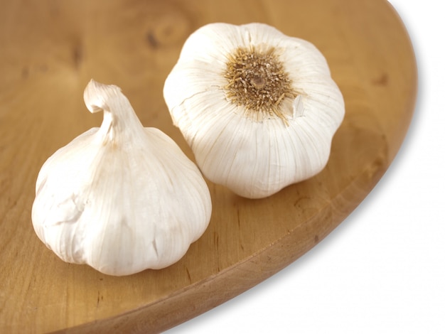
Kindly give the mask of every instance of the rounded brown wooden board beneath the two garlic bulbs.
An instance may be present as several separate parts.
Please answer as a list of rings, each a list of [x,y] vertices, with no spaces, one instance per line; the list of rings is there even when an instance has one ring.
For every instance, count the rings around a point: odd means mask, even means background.
[[[383,0],[4,1],[0,11],[0,332],[151,333],[260,281],[321,242],[390,165],[412,118],[417,68]],[[208,183],[208,230],[181,261],[125,277],[66,264],[31,224],[43,162],[98,126],[88,80],[122,87],[144,126],[193,159],[163,102],[183,42],[205,23],[261,21],[314,43],[345,98],[328,166],[262,200]],[[371,252],[372,250],[370,250]]]

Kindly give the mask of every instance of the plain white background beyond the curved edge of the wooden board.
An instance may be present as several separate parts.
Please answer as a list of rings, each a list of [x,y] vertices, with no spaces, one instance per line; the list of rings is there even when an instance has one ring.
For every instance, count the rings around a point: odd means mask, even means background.
[[[385,176],[310,252],[168,333],[445,333],[445,16],[438,1],[390,2],[419,93]]]

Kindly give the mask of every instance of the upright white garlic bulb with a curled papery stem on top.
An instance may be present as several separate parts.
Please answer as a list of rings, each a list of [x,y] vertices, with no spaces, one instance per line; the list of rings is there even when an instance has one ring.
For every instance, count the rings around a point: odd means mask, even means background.
[[[176,143],[144,128],[119,87],[90,81],[100,128],[43,164],[33,227],[65,262],[123,276],[177,262],[208,226],[212,204],[198,167]]]

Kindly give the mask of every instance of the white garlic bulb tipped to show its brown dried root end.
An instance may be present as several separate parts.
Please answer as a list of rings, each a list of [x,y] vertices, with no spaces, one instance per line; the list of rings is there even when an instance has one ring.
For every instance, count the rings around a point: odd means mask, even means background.
[[[262,23],[192,33],[163,95],[203,174],[247,198],[321,171],[345,113],[316,47]]]

